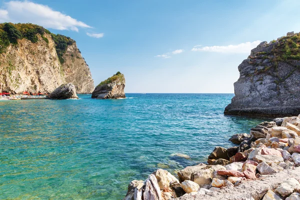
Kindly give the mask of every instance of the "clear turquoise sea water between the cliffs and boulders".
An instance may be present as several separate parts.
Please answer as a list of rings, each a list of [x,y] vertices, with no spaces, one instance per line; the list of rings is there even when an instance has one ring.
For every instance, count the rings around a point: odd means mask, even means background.
[[[122,199],[131,180],[206,161],[263,120],[224,116],[233,94],[78,96],[0,101],[1,199]]]

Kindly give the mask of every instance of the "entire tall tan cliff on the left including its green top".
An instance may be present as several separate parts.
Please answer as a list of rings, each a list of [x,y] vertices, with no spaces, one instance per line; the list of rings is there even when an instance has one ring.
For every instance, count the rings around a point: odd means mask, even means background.
[[[78,93],[94,88],[73,39],[30,23],[0,23],[0,91],[50,93],[68,82]]]

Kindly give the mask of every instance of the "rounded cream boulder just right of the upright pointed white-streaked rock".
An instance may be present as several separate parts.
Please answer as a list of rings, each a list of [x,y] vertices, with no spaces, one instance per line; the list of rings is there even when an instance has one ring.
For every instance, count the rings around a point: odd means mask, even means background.
[[[171,191],[170,183],[172,182],[179,183],[177,178],[175,178],[175,176],[170,174],[167,170],[158,168],[152,174],[155,175],[160,190]]]

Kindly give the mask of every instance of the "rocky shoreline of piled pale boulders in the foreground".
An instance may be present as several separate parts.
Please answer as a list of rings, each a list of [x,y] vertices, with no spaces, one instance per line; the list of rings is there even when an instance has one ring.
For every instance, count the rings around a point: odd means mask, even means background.
[[[133,180],[123,200],[300,199],[300,115],[264,121],[216,146],[207,163],[187,166],[178,179],[157,169]]]

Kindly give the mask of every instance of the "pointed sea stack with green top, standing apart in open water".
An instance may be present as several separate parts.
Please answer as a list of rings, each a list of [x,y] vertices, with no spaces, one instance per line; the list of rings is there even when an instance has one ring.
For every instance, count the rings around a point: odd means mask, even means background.
[[[119,71],[113,76],[107,78],[106,80],[100,82],[93,90],[92,98],[125,98],[125,77],[124,74]]]

